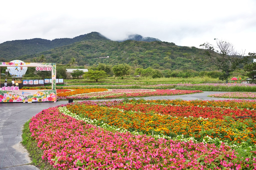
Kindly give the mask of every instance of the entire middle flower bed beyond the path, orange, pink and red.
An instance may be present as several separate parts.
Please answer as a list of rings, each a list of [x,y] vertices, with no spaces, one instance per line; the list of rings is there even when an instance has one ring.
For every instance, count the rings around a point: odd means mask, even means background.
[[[88,100],[88,99],[114,99],[123,97],[147,97],[201,93],[200,90],[160,90],[160,89],[104,89],[104,88],[78,88],[57,89],[57,98],[60,100]]]

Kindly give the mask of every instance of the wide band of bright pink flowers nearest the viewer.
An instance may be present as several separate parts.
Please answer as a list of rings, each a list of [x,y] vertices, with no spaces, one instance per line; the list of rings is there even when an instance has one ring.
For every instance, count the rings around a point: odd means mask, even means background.
[[[63,105],[64,106],[64,105]],[[154,139],[109,132],[49,108],[31,118],[42,158],[62,169],[256,169],[255,158],[239,158],[222,144]]]

